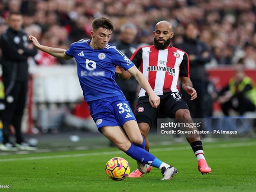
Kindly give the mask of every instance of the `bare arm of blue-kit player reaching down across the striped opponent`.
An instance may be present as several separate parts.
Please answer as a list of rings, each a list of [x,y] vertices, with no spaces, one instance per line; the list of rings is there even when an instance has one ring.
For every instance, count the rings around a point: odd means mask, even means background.
[[[135,65],[129,68],[127,71],[132,74],[132,76],[134,76],[138,81],[139,85],[146,90],[151,106],[157,108],[160,104],[160,98],[155,94],[146,77],[138,70]]]

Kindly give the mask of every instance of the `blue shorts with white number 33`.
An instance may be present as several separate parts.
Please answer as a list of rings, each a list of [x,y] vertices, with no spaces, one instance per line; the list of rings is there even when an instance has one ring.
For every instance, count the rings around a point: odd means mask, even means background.
[[[123,126],[136,118],[124,96],[108,97],[88,102],[91,116],[98,130],[104,126]],[[100,130],[99,130],[100,131]]]

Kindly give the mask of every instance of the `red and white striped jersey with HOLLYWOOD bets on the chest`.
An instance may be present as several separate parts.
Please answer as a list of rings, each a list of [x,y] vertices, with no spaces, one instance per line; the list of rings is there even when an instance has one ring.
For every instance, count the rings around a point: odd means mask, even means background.
[[[188,54],[175,47],[158,50],[154,45],[138,48],[130,59],[147,78],[157,95],[180,92],[179,77],[189,77]],[[141,88],[139,97],[145,96]]]

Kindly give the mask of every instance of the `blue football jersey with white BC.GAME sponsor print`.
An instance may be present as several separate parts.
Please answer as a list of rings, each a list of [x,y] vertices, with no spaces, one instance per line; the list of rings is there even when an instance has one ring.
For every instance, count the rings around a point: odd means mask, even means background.
[[[118,95],[124,96],[115,81],[115,67],[119,65],[128,70],[134,66],[134,63],[115,46],[107,44],[104,49],[93,49],[89,45],[90,41],[81,39],[66,50],[66,55],[76,60],[77,75],[84,100],[88,102]]]

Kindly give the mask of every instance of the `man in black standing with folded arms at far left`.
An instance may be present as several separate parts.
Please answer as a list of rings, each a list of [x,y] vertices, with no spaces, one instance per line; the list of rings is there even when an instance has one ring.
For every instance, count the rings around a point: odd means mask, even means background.
[[[3,144],[1,150],[32,149],[21,133],[21,120],[26,104],[28,87],[29,56],[35,56],[37,50],[29,44],[28,37],[21,29],[22,15],[12,12],[8,18],[9,28],[0,37],[2,49],[2,77],[5,88],[5,109],[0,112],[3,123]],[[16,144],[9,140],[9,126],[15,127]]]

